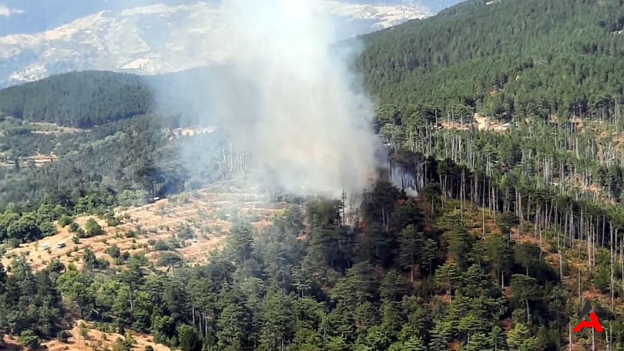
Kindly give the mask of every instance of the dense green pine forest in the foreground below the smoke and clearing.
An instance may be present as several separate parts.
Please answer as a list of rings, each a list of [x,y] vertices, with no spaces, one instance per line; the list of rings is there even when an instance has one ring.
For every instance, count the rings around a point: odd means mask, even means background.
[[[87,254],[83,270],[51,262],[37,274],[18,259],[0,283],[2,331],[60,335],[51,315],[64,308],[105,332],[130,327],[185,351],[561,347],[577,305],[542,249],[505,237],[510,222],[470,232],[459,203],[442,207],[439,190],[415,201],[379,182],[352,225],[341,223],[340,202],[321,200],[305,215],[293,206],[259,235],[240,222],[210,264],[176,260],[172,274],[140,256],[117,274]],[[461,214],[480,224],[478,210]],[[38,303],[49,300],[57,302]],[[602,323],[620,345],[624,330]]]

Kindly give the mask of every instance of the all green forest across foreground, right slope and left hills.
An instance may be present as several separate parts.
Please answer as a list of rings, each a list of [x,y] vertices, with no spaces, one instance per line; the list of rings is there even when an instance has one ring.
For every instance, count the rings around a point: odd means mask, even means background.
[[[417,197],[382,179],[351,219],[295,202],[262,232],[238,223],[207,265],[165,255],[167,274],[127,253],[39,272],[18,258],[0,332],[62,340],[70,314],[183,351],[623,350],[623,30],[622,1],[499,0],[363,36],[376,131]],[[244,169],[226,132],[175,136],[188,121],[155,114],[144,84],[82,72],[0,91],[6,247]],[[572,333],[588,295],[605,332]]]

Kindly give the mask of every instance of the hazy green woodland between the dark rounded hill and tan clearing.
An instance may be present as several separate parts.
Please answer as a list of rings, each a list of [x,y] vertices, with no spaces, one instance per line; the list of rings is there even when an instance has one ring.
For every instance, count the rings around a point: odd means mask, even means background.
[[[215,158],[227,144],[223,133],[180,138],[175,126],[145,115],[54,135],[7,118],[0,136],[0,207],[33,209],[42,202],[72,207],[94,193],[132,192],[144,202],[221,179],[227,169]],[[46,162],[37,165],[33,155]]]

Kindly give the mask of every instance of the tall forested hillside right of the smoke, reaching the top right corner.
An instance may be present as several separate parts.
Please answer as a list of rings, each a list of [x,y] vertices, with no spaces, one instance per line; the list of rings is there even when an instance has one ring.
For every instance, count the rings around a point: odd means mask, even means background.
[[[537,305],[563,304],[554,324],[555,315],[512,310],[526,317],[524,338],[541,340],[516,349],[622,343],[615,325],[624,287],[614,277],[622,272],[624,247],[623,13],[617,1],[469,1],[364,36],[358,64],[378,99],[376,129],[393,161],[411,170],[416,183],[438,185],[436,194],[467,202],[459,207],[499,212],[495,223],[507,240],[539,244],[554,269],[542,286],[562,282],[543,295],[529,286],[522,288],[527,294],[514,293],[514,283],[504,290],[512,301],[524,296],[529,311],[534,293]],[[455,220],[464,227],[470,217]],[[600,301],[607,333],[569,332],[578,313],[571,304],[583,297]],[[511,328],[524,327],[512,317]],[[557,337],[553,329],[560,330]],[[470,349],[459,344],[448,349]]]

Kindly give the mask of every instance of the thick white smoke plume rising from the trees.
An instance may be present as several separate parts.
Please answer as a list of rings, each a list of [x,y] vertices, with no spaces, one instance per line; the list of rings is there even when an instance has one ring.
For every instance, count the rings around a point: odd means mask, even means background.
[[[233,74],[210,82],[207,100],[281,187],[356,194],[377,163],[373,106],[349,69],[355,48],[338,49],[320,4],[223,0],[221,45]]]

